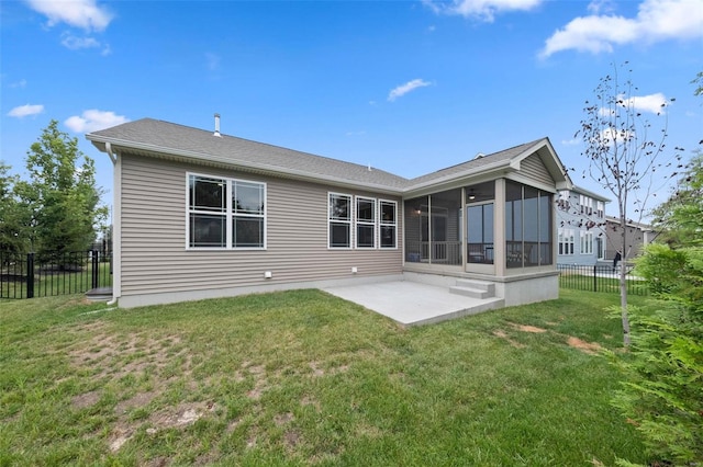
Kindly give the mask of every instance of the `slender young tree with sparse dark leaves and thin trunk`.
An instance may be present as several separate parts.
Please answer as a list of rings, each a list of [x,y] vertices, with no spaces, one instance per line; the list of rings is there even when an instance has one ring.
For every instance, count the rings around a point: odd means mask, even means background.
[[[652,113],[661,119],[661,126],[652,128],[651,123],[643,115],[646,113],[643,110],[645,102],[636,95],[638,89],[631,79],[632,70],[627,69],[624,81],[618,78],[618,68],[626,66],[627,62],[621,67],[613,65],[613,73],[601,78],[594,90],[595,99],[585,102],[585,116],[576,135],[578,137],[580,134],[584,143],[582,155],[589,159],[590,176],[612,193],[617,202],[622,232],[620,251],[623,267],[620,269],[620,289],[623,341],[625,345],[629,345],[627,271],[624,267],[629,253],[626,227],[633,220],[641,221],[645,205],[652,193],[652,183],[657,176],[655,173],[668,172],[668,167],[680,161],[682,149],[673,148],[672,157],[668,161],[660,161],[669,152],[665,144],[668,124],[666,107],[673,99],[667,101],[661,96],[661,102]],[[676,172],[667,173],[665,179],[674,174]],[[633,213],[627,212],[631,204]],[[629,217],[631,214],[634,214],[635,219]]]

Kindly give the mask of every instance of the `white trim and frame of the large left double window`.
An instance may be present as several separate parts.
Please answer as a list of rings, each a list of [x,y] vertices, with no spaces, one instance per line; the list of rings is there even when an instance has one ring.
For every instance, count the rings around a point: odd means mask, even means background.
[[[225,246],[224,247],[191,247],[190,246],[190,215],[191,214],[213,214],[210,212],[198,212],[190,208],[190,178],[201,176],[203,179],[221,180],[225,183]],[[261,247],[233,247],[232,244],[232,182],[244,182],[261,185],[264,187],[264,214],[239,214],[237,217],[254,217],[264,220],[264,241]],[[231,176],[213,175],[199,172],[186,172],[186,250],[188,251],[264,251],[267,249],[268,241],[268,185],[266,182],[257,180],[235,179]]]

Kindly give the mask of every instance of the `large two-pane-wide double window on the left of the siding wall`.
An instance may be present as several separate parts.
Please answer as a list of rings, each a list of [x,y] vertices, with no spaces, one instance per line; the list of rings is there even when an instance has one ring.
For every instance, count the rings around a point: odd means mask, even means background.
[[[188,248],[266,248],[266,184],[188,175]]]

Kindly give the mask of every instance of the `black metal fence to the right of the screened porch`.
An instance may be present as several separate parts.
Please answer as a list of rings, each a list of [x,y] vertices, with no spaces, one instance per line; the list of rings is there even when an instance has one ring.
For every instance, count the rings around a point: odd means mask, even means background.
[[[557,264],[559,286],[577,291],[620,294],[620,267],[626,267],[627,294],[649,295],[647,283],[632,273],[632,267],[621,263],[617,269],[609,265]]]

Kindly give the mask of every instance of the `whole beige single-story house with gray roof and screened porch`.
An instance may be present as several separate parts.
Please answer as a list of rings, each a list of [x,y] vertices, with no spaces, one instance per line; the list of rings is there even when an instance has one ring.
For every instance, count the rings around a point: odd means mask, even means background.
[[[547,138],[416,179],[144,118],[87,138],[114,164],[121,307],[424,276],[558,296]],[[432,155],[428,155],[432,157]]]

